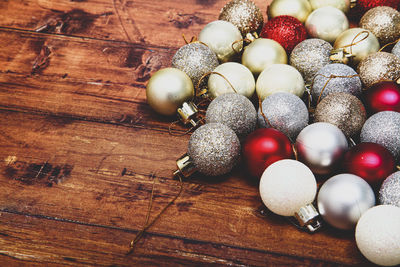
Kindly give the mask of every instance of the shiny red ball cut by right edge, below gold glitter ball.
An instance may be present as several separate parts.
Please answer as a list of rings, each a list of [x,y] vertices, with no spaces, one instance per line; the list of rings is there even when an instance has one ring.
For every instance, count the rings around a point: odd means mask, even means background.
[[[374,84],[365,94],[365,105],[372,114],[385,110],[400,112],[400,85],[393,81]]]

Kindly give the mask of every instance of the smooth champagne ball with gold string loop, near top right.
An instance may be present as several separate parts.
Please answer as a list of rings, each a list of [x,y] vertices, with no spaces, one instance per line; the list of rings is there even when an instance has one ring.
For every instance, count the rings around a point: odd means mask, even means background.
[[[352,62],[357,65],[369,54],[377,52],[380,46],[376,36],[369,30],[351,28],[337,37],[333,48],[343,48],[346,53],[354,55]]]

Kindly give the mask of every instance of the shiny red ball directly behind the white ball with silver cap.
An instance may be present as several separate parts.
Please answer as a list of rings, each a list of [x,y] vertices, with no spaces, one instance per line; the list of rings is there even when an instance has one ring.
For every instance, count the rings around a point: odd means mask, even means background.
[[[243,144],[243,159],[247,169],[258,178],[272,163],[293,157],[289,138],[273,128],[255,130],[247,136]]]

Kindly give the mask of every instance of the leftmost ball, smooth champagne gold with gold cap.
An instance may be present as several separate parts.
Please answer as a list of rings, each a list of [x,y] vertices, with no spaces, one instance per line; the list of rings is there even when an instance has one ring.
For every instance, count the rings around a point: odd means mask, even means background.
[[[183,71],[165,68],[154,73],[146,87],[149,105],[162,115],[174,115],[183,102],[192,99],[192,80]]]

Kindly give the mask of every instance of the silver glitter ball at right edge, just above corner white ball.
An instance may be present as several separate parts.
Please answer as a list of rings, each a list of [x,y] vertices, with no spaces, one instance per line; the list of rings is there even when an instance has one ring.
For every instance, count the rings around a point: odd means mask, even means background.
[[[394,205],[400,208],[400,171],[383,181],[379,190],[379,201],[382,205]]]

